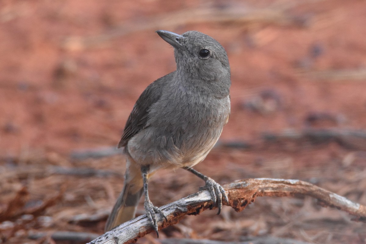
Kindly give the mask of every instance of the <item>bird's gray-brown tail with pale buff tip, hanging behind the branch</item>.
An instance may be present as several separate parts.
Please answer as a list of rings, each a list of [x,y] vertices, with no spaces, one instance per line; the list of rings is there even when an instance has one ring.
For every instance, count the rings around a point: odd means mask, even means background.
[[[135,217],[137,205],[143,193],[143,182],[139,166],[127,158],[123,191],[105,224],[105,232]]]

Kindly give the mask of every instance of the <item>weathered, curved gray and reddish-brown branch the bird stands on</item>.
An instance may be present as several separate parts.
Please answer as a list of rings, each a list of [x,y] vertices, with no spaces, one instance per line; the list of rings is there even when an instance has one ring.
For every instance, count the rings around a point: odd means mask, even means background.
[[[294,196],[307,195],[316,198],[322,206],[336,207],[354,215],[354,220],[366,221],[366,206],[354,203],[347,198],[339,196],[313,184],[300,180],[283,179],[247,179],[234,181],[224,186],[228,193],[228,205],[235,211],[243,210],[248,204],[254,202],[257,196]],[[206,209],[213,209],[209,191],[200,191],[169,203],[160,209],[167,216],[168,221],[159,220],[159,228],[176,224],[187,214],[199,214]],[[157,215],[160,217],[160,215]],[[132,219],[115,229],[99,236],[90,244],[122,244],[134,243],[138,238],[153,232],[146,215]]]

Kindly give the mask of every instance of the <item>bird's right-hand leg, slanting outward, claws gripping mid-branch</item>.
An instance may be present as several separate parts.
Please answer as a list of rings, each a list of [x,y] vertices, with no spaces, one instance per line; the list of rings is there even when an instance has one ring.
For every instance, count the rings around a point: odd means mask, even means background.
[[[216,181],[199,173],[197,170],[194,170],[190,167],[183,167],[183,169],[188,170],[189,172],[197,175],[199,178],[205,181],[206,185],[204,187],[201,187],[200,189],[208,189],[210,191],[213,203],[216,204],[217,201],[217,207],[219,208],[219,212],[217,214],[220,214],[221,208],[223,207],[223,196],[225,202],[229,202],[224,188],[220,184],[216,183]]]

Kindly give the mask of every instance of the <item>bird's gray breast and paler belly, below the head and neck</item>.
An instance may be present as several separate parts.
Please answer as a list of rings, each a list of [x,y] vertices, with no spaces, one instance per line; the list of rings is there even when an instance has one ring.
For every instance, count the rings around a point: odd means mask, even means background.
[[[146,128],[128,142],[128,150],[140,164],[197,164],[219,139],[229,113],[228,96],[176,87],[150,107]]]

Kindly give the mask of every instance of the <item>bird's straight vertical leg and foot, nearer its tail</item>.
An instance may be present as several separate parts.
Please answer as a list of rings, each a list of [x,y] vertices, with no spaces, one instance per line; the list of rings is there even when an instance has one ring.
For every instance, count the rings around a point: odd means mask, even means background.
[[[147,189],[147,177],[149,172],[149,166],[141,166],[141,174],[142,174],[142,180],[143,180],[143,191],[145,193],[145,203],[143,204],[147,218],[151,222],[157,236],[159,237],[158,233],[158,224],[157,224],[157,218],[155,213],[159,213],[163,215],[166,221],[168,221],[167,217],[165,217],[164,213],[158,208],[153,205],[153,203],[150,201],[149,198],[149,190]]]

